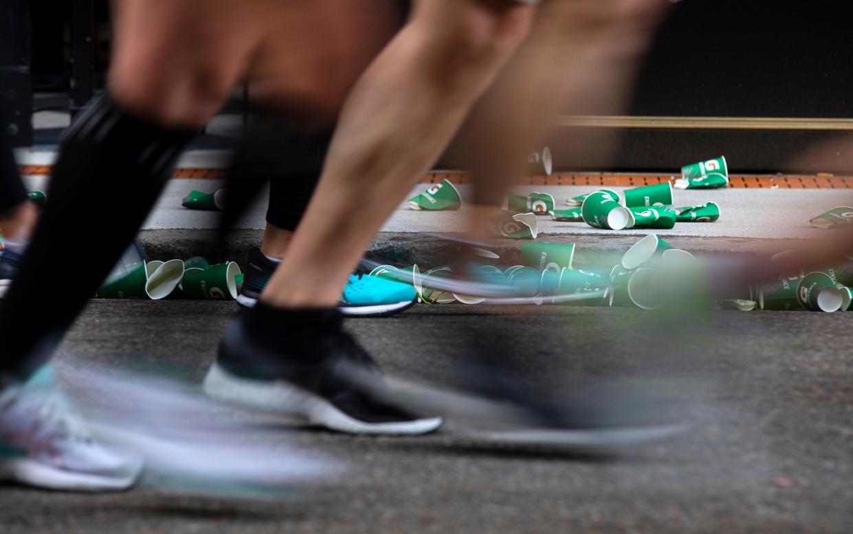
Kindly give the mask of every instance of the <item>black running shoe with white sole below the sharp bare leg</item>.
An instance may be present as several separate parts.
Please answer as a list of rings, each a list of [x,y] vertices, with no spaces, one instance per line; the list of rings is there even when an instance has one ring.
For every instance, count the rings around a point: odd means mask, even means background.
[[[393,405],[383,381],[365,387],[352,379],[380,374],[368,353],[341,330],[339,312],[306,312],[324,313],[321,324],[281,324],[289,330],[283,336],[258,332],[247,317],[252,313],[257,310],[236,319],[220,342],[204,383],[212,397],[348,434],[416,435],[441,426],[440,417],[419,418]]]

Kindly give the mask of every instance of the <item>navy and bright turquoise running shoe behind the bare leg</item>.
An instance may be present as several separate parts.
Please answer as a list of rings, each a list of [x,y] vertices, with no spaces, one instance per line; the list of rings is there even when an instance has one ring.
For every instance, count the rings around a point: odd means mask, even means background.
[[[237,302],[245,307],[253,307],[277,266],[278,262],[264,256],[259,249],[249,252],[246,276]],[[357,317],[392,315],[415,304],[415,297],[415,288],[409,284],[353,274],[344,287],[338,309],[344,315]]]

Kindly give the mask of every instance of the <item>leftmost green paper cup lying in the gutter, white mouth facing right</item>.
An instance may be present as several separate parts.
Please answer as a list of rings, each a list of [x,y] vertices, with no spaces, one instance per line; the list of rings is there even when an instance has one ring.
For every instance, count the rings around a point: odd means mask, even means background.
[[[98,298],[151,299],[159,301],[171,295],[183,278],[183,261],[148,261],[130,266],[113,277],[97,292]]]

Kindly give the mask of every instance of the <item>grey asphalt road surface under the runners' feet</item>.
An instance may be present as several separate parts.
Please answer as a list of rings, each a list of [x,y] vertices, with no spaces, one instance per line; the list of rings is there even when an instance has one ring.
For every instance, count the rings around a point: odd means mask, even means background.
[[[230,303],[95,301],[57,367],[200,382]],[[415,307],[348,324],[386,370],[455,383],[473,335],[566,388],[630,379],[684,399],[690,427],[618,455],[487,445],[448,429],[369,438],[281,423],[349,469],[274,501],[194,497],[146,477],[85,496],[0,486],[0,532],[850,532],[853,313],[650,315],[627,308]],[[537,372],[545,370],[543,373]],[[86,384],[75,395],[96,397]],[[247,435],[246,439],[252,439]]]

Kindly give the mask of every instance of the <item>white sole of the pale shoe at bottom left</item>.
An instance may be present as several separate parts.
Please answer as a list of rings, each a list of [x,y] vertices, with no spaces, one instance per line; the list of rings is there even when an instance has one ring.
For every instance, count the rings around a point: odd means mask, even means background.
[[[58,491],[124,491],[136,483],[142,465],[124,477],[75,473],[35,462],[30,458],[0,460],[0,480]]]

